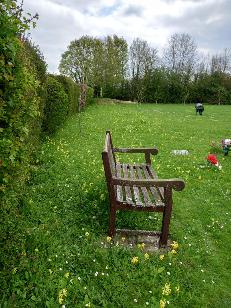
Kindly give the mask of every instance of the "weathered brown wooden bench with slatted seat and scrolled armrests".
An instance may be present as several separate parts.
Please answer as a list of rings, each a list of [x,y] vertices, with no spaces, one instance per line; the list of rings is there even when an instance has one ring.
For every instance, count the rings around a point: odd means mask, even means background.
[[[111,205],[108,235],[113,238],[115,234],[158,236],[160,245],[166,245],[172,213],[172,188],[176,191],[183,190],[184,181],[158,179],[150,159],[150,154],[158,153],[156,148],[115,148],[111,132],[107,131],[106,134],[102,158]],[[121,164],[115,160],[115,152],[145,153],[146,164]],[[126,200],[123,198],[122,187],[125,187]],[[115,229],[117,209],[163,213],[161,231]]]

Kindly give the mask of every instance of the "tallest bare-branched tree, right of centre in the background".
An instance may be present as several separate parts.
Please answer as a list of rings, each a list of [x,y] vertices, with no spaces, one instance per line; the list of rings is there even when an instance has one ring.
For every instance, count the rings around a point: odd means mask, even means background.
[[[163,49],[163,60],[178,82],[188,84],[200,60],[197,43],[190,34],[175,32]]]

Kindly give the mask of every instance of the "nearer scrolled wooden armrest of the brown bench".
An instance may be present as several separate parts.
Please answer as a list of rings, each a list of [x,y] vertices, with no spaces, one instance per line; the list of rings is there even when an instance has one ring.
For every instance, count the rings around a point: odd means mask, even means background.
[[[180,192],[184,189],[184,181],[181,179],[124,179],[124,177],[112,176],[112,184],[120,186],[137,187],[172,187]]]

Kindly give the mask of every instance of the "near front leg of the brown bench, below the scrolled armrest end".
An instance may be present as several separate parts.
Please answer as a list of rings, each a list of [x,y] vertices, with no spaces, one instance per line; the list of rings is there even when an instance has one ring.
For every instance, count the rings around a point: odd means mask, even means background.
[[[165,211],[163,213],[160,245],[167,245],[169,225],[172,214],[172,188],[164,188]]]

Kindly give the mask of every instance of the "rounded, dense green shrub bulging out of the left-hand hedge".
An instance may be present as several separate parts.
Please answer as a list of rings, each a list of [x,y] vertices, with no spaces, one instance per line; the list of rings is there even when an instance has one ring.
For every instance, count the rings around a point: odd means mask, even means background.
[[[51,76],[46,82],[46,106],[44,108],[45,119],[43,130],[53,133],[58,130],[67,118],[68,95],[61,83]]]

